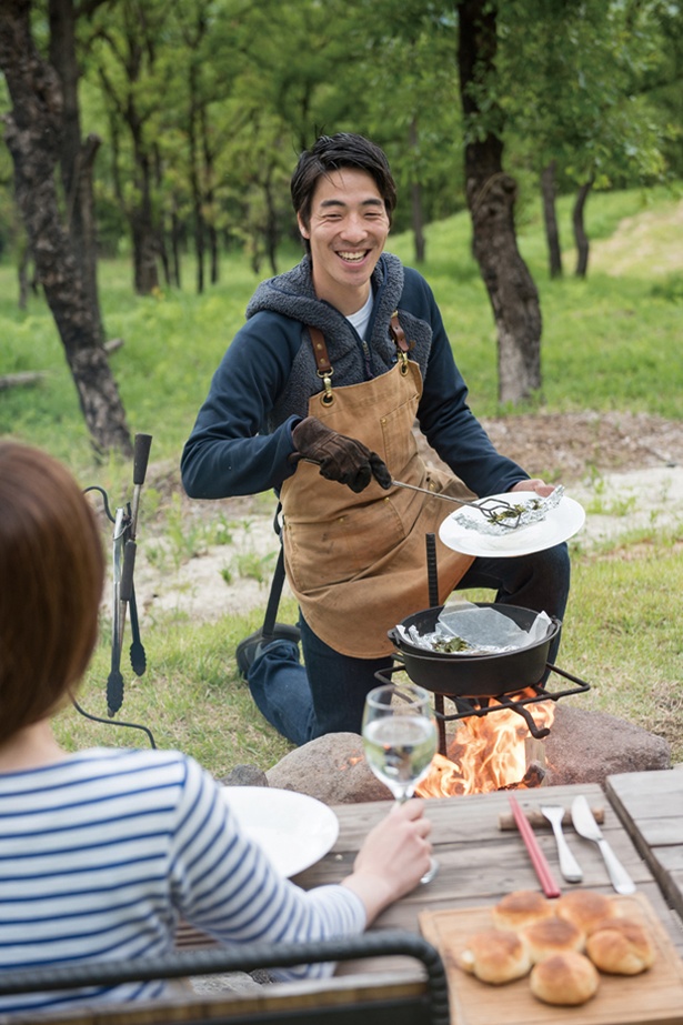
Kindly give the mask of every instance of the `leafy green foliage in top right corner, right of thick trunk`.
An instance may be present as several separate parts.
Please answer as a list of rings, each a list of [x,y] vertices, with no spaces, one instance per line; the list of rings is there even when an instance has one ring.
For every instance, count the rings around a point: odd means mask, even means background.
[[[500,3],[498,88],[518,157],[526,152],[536,172],[554,160],[564,183],[661,179],[680,131],[651,94],[667,73],[661,16],[670,9],[660,0]]]

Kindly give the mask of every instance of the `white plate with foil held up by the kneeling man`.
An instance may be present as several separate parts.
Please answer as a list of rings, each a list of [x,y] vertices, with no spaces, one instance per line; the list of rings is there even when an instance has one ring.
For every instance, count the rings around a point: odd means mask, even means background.
[[[533,492],[506,492],[491,495],[491,498],[514,502],[523,500],[525,494],[532,495]],[[464,555],[502,559],[530,555],[532,552],[542,552],[554,544],[568,541],[583,526],[585,511],[579,502],[563,495],[558,505],[549,510],[545,519],[529,523],[526,526],[513,527],[504,534],[483,534],[473,527],[464,526],[462,520],[465,516],[468,520],[474,516],[483,520],[481,513],[466,505],[452,512],[439,527],[439,536],[446,547],[462,552]]]

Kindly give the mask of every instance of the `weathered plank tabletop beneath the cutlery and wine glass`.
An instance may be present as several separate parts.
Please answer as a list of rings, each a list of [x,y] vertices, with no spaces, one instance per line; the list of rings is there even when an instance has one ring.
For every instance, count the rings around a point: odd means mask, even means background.
[[[642,776],[665,776],[666,773],[643,773]],[[683,784],[683,773],[680,775]],[[612,777],[611,792],[615,790]],[[665,926],[673,944],[683,954],[683,927],[676,912],[672,911],[659,885],[660,876],[636,848],[629,831],[622,825],[616,811],[597,784],[548,786],[515,791],[518,802],[525,811],[541,804],[562,804],[570,808],[576,794],[585,794],[591,807],[604,808],[602,825],[605,838],[632,876],[637,890],[645,894]],[[663,798],[664,803],[664,798]],[[334,812],[340,822],[340,834],[334,847],[318,864],[295,878],[310,888],[321,883],[339,882],[351,872],[353,860],[369,828],[386,814],[385,802],[338,805]],[[419,931],[418,915],[423,911],[474,907],[495,904],[513,890],[539,890],[540,885],[516,830],[499,828],[501,815],[510,812],[504,792],[466,797],[433,798],[428,802],[426,814],[433,822],[434,854],[440,864],[436,878],[419,886],[395,905],[388,908],[374,928],[395,927]],[[656,812],[651,825],[660,822]],[[572,888],[560,874],[555,841],[550,824],[536,827],[541,847],[563,892]],[[595,844],[582,840],[570,826],[568,841],[584,871],[583,888],[613,893],[604,862]],[[683,841],[683,822],[679,822],[679,837]],[[642,856],[641,856],[642,854]],[[679,847],[679,856],[683,846]],[[683,861],[679,862],[679,866]],[[680,881],[680,875],[679,875]],[[667,891],[665,891],[667,892]],[[679,890],[679,896],[681,892]]]

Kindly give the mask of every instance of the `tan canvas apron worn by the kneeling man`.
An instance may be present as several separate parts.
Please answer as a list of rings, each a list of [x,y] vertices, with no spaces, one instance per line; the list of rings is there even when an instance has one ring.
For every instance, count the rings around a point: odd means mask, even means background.
[[[405,360],[372,381],[309,401],[309,415],[362,441],[392,478],[419,488],[470,495],[453,474],[429,469],[413,423],[422,394],[420,368]],[[329,399],[329,396],[328,396]],[[439,600],[445,601],[473,562],[439,540],[445,502],[373,479],[360,494],[327,481],[303,460],[282,485],[287,575],[303,615],[335,651],[359,659],[391,654],[386,631],[429,606],[425,534],[436,534]]]

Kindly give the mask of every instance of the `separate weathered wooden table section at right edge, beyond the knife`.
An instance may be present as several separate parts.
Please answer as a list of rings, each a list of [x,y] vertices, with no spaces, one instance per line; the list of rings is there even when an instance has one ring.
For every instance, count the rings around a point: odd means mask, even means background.
[[[605,785],[662,893],[683,916],[683,770],[610,776]]]

